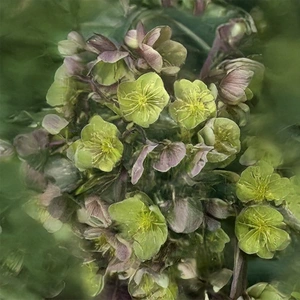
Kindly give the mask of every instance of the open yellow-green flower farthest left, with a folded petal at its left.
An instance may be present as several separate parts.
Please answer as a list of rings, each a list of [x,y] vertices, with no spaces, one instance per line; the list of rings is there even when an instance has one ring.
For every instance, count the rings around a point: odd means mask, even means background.
[[[110,172],[123,153],[123,144],[118,135],[114,124],[94,116],[82,129],[81,139],[70,146],[67,155],[80,170],[98,168]]]

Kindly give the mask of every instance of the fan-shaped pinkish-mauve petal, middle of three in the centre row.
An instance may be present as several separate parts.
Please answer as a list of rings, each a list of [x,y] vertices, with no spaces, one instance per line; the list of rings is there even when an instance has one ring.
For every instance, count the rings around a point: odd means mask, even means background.
[[[153,168],[160,172],[167,172],[176,167],[185,157],[186,149],[182,142],[167,144],[160,153],[159,160],[153,164]]]

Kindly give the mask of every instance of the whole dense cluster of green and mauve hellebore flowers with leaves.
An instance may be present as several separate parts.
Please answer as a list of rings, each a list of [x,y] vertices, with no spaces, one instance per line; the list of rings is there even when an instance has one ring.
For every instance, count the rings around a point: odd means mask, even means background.
[[[74,13],[71,3],[62,9]],[[249,130],[265,71],[250,55],[252,16],[218,1],[120,3],[114,33],[87,22],[58,42],[48,107],[14,116],[26,130],[0,140],[1,163],[22,161],[24,218],[71,244],[82,299],[296,298],[294,287],[246,286],[246,261],[284,255],[300,231],[299,176]],[[1,257],[1,297],[26,278],[27,254]],[[35,294],[59,295],[64,270],[50,281]]]

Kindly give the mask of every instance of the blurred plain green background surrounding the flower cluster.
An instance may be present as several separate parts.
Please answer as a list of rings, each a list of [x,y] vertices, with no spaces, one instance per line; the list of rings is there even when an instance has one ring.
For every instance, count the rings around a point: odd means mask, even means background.
[[[286,172],[292,175],[300,170],[300,1],[227,2],[253,15],[259,39],[251,50],[262,53],[266,65],[264,91],[248,130],[278,141],[286,156]],[[58,41],[72,30],[85,37],[98,32],[120,39],[141,12],[155,17],[157,11],[150,9],[124,17],[117,0],[0,1],[0,138],[12,141],[26,131],[28,120],[20,115],[23,110],[38,112],[46,106],[46,92],[62,63]],[[188,33],[203,34],[201,38],[209,45],[216,26],[230,17],[217,14],[213,23],[203,27],[203,20],[197,17],[173,10],[167,13],[185,26],[185,31],[177,32],[179,40]],[[153,24],[163,20],[154,18]],[[187,41],[190,62],[200,66],[205,51],[197,49],[197,41]],[[76,258],[74,245],[79,241],[68,229],[49,234],[22,211],[29,194],[18,175],[19,167],[17,158],[0,164],[0,265],[7,264],[10,255],[21,255],[25,267],[18,276],[0,275],[0,299],[87,299],[78,276],[81,260]],[[299,249],[294,243],[279,260],[266,263],[253,259],[250,283],[275,279],[294,285],[300,278],[300,267],[295,263]]]

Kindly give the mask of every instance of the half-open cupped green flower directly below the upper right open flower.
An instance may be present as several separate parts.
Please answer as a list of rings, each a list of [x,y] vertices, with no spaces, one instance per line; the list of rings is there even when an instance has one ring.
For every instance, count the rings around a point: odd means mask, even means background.
[[[198,140],[214,149],[207,154],[210,163],[227,165],[240,152],[240,128],[227,118],[213,118],[198,132]],[[224,165],[224,166],[225,166]]]

